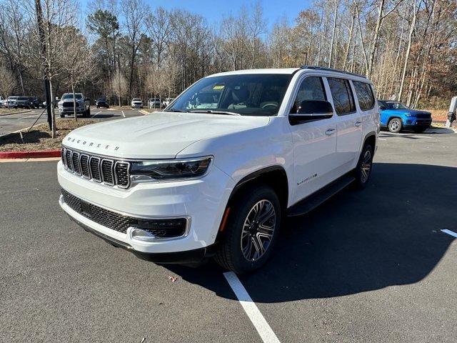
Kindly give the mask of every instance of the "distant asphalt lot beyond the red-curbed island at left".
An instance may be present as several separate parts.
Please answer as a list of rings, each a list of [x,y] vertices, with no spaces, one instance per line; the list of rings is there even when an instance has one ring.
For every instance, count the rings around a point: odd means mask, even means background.
[[[25,111],[20,114],[3,114],[0,116],[0,137],[6,134],[9,134],[14,131],[21,129],[27,129],[33,125],[36,121],[36,124],[46,123],[47,117],[46,113],[43,113],[44,109],[31,109],[30,111]],[[91,106],[91,119],[100,119],[100,120],[113,120],[128,118],[131,116],[142,116],[138,109],[128,109],[128,110],[119,110],[119,109],[97,109],[95,106]],[[56,109],[56,116],[59,118],[59,110]],[[65,117],[67,120],[73,119],[71,116]],[[37,120],[38,119],[38,120]],[[80,115],[78,119],[84,120]]]

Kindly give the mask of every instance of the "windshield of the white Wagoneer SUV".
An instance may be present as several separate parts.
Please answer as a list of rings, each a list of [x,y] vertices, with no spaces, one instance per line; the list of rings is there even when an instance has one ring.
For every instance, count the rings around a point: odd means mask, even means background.
[[[226,111],[243,116],[278,114],[291,74],[238,74],[201,79],[167,111]]]

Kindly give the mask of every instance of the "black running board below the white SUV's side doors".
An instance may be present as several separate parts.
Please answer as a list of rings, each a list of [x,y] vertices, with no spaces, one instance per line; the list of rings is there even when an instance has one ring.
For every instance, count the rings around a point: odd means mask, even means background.
[[[318,190],[317,192],[311,194],[309,197],[300,200],[296,204],[292,205],[287,209],[288,217],[296,217],[306,214],[313,209],[316,209],[320,204],[326,202],[328,199],[333,197],[338,192],[341,192],[343,189],[348,187],[355,178],[350,174],[343,175],[339,179],[336,179],[328,186],[323,187],[323,189]]]

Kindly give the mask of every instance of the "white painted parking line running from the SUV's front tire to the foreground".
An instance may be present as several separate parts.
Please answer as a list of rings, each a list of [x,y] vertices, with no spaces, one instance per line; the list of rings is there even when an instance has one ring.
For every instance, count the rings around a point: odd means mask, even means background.
[[[276,334],[273,332],[270,325],[268,325],[265,318],[263,318],[263,315],[252,301],[251,297],[249,297],[248,292],[246,292],[246,289],[243,284],[241,284],[241,281],[236,274],[233,272],[225,272],[224,277],[227,282],[229,282],[229,285],[243,307],[244,312],[246,312],[249,319],[251,319],[252,324],[256,327],[262,341],[264,343],[279,343],[278,337],[276,337]]]

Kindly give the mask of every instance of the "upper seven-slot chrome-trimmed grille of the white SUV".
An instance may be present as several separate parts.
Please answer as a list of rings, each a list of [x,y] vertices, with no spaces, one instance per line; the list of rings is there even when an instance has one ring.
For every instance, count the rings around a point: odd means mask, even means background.
[[[130,164],[115,159],[101,159],[98,156],[73,151],[65,146],[61,151],[64,168],[71,173],[94,182],[128,188],[130,186]]]

